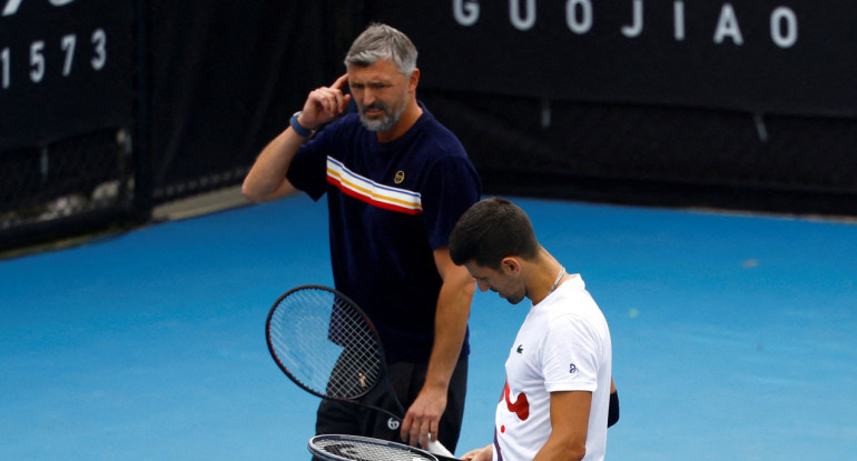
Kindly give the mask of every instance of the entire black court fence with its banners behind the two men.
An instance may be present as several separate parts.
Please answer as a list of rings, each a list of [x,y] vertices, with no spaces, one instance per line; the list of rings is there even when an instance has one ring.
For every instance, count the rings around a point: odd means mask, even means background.
[[[371,21],[486,193],[857,216],[857,6],[705,3],[0,0],[0,250],[240,183]]]

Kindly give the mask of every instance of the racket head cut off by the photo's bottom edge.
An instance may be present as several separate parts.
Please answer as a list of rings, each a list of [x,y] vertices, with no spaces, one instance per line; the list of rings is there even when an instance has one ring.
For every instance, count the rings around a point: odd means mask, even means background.
[[[315,435],[307,449],[329,461],[437,461],[437,457],[418,448],[361,435]]]

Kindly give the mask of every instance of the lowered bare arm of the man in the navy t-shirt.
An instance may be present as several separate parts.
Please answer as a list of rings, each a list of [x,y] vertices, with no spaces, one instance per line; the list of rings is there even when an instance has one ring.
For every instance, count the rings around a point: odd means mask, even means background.
[[[441,415],[446,409],[450,379],[459,362],[470,318],[470,304],[476,289],[467,270],[452,262],[447,247],[434,250],[434,262],[443,284],[437,297],[432,357],[423,389],[402,421],[402,439],[424,448],[428,443],[428,433],[432,440],[437,440]]]

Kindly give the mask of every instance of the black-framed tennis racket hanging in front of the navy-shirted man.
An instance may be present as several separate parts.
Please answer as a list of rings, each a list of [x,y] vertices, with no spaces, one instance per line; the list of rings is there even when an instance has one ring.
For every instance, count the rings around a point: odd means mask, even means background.
[[[402,422],[405,409],[390,384],[381,338],[345,294],[321,285],[285,292],[268,312],[265,337],[279,369],[305,391],[372,408]],[[359,401],[378,384],[398,413]],[[440,441],[430,441],[428,450],[452,457]]]

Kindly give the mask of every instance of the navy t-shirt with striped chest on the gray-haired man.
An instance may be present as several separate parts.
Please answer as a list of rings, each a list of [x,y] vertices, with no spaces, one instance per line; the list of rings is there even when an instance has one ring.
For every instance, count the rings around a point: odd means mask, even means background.
[[[314,200],[327,193],[334,282],[372,319],[390,362],[427,362],[442,284],[432,251],[482,192],[461,142],[421,107],[386,143],[346,114],[304,143],[287,173]]]

